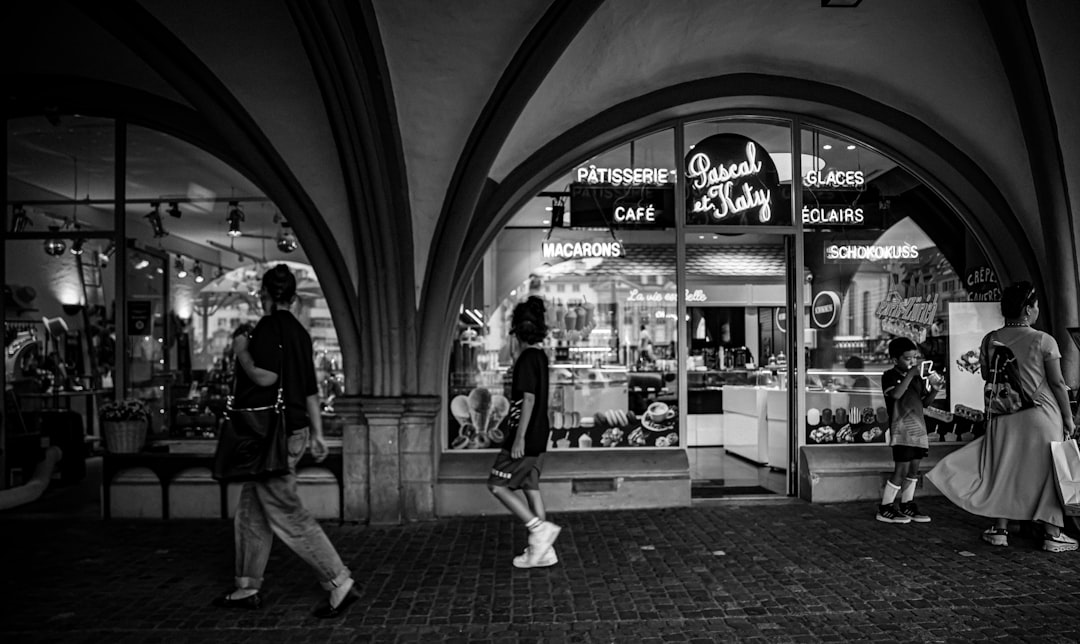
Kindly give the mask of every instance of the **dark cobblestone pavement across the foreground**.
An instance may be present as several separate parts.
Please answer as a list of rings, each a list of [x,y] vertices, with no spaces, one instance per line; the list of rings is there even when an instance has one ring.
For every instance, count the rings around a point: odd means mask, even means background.
[[[873,504],[714,505],[567,513],[561,563],[522,571],[509,515],[399,527],[327,524],[356,578],[345,616],[274,546],[254,612],[229,587],[231,524],[0,514],[5,642],[1080,641],[1080,552],[982,544],[985,521],[922,501],[929,524]]]

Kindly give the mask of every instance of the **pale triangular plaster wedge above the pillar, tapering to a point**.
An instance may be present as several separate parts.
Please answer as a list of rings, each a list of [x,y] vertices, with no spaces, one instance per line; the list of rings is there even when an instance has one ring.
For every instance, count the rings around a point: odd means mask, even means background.
[[[419,298],[431,240],[469,134],[507,64],[549,3],[373,0],[373,4],[405,153]]]

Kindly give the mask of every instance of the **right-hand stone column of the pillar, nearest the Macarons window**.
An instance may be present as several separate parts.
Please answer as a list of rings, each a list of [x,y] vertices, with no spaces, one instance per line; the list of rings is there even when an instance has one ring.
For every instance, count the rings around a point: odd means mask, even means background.
[[[406,521],[435,516],[435,417],[442,406],[437,397],[405,399],[402,417],[402,515]]]

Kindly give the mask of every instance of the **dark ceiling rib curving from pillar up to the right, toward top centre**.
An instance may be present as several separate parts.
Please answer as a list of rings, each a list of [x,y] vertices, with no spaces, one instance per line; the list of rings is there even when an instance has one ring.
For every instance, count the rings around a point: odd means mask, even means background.
[[[420,355],[445,353],[445,332],[455,327],[461,253],[476,225],[476,205],[488,174],[525,106],[603,0],[554,0],[507,65],[458,158],[431,240],[423,281]],[[482,226],[486,223],[480,223]],[[420,390],[437,393],[443,375],[421,368]]]

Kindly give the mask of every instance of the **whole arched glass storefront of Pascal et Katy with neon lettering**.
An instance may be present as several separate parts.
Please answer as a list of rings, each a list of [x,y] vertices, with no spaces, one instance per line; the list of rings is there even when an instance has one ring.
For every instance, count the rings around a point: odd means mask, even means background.
[[[443,471],[483,467],[499,444],[510,314],[528,296],[546,304],[549,450],[564,456],[544,475],[556,486],[588,453],[591,478],[620,472],[604,491],[672,502],[687,472],[693,496],[723,493],[734,471],[762,494],[794,494],[821,459],[850,469],[843,489],[825,480],[804,496],[876,494],[878,466],[859,447],[888,439],[880,379],[896,336],[946,374],[932,453],[973,438],[954,412],[981,393],[951,365],[996,320],[989,286],[960,277],[981,279],[977,243],[949,238],[957,222],[941,222],[955,213],[927,207],[933,192],[916,197],[918,176],[876,146],[795,126],[679,122],[550,177],[485,254],[468,290],[483,295],[462,303]],[[438,502],[470,512],[463,489],[448,475]]]

